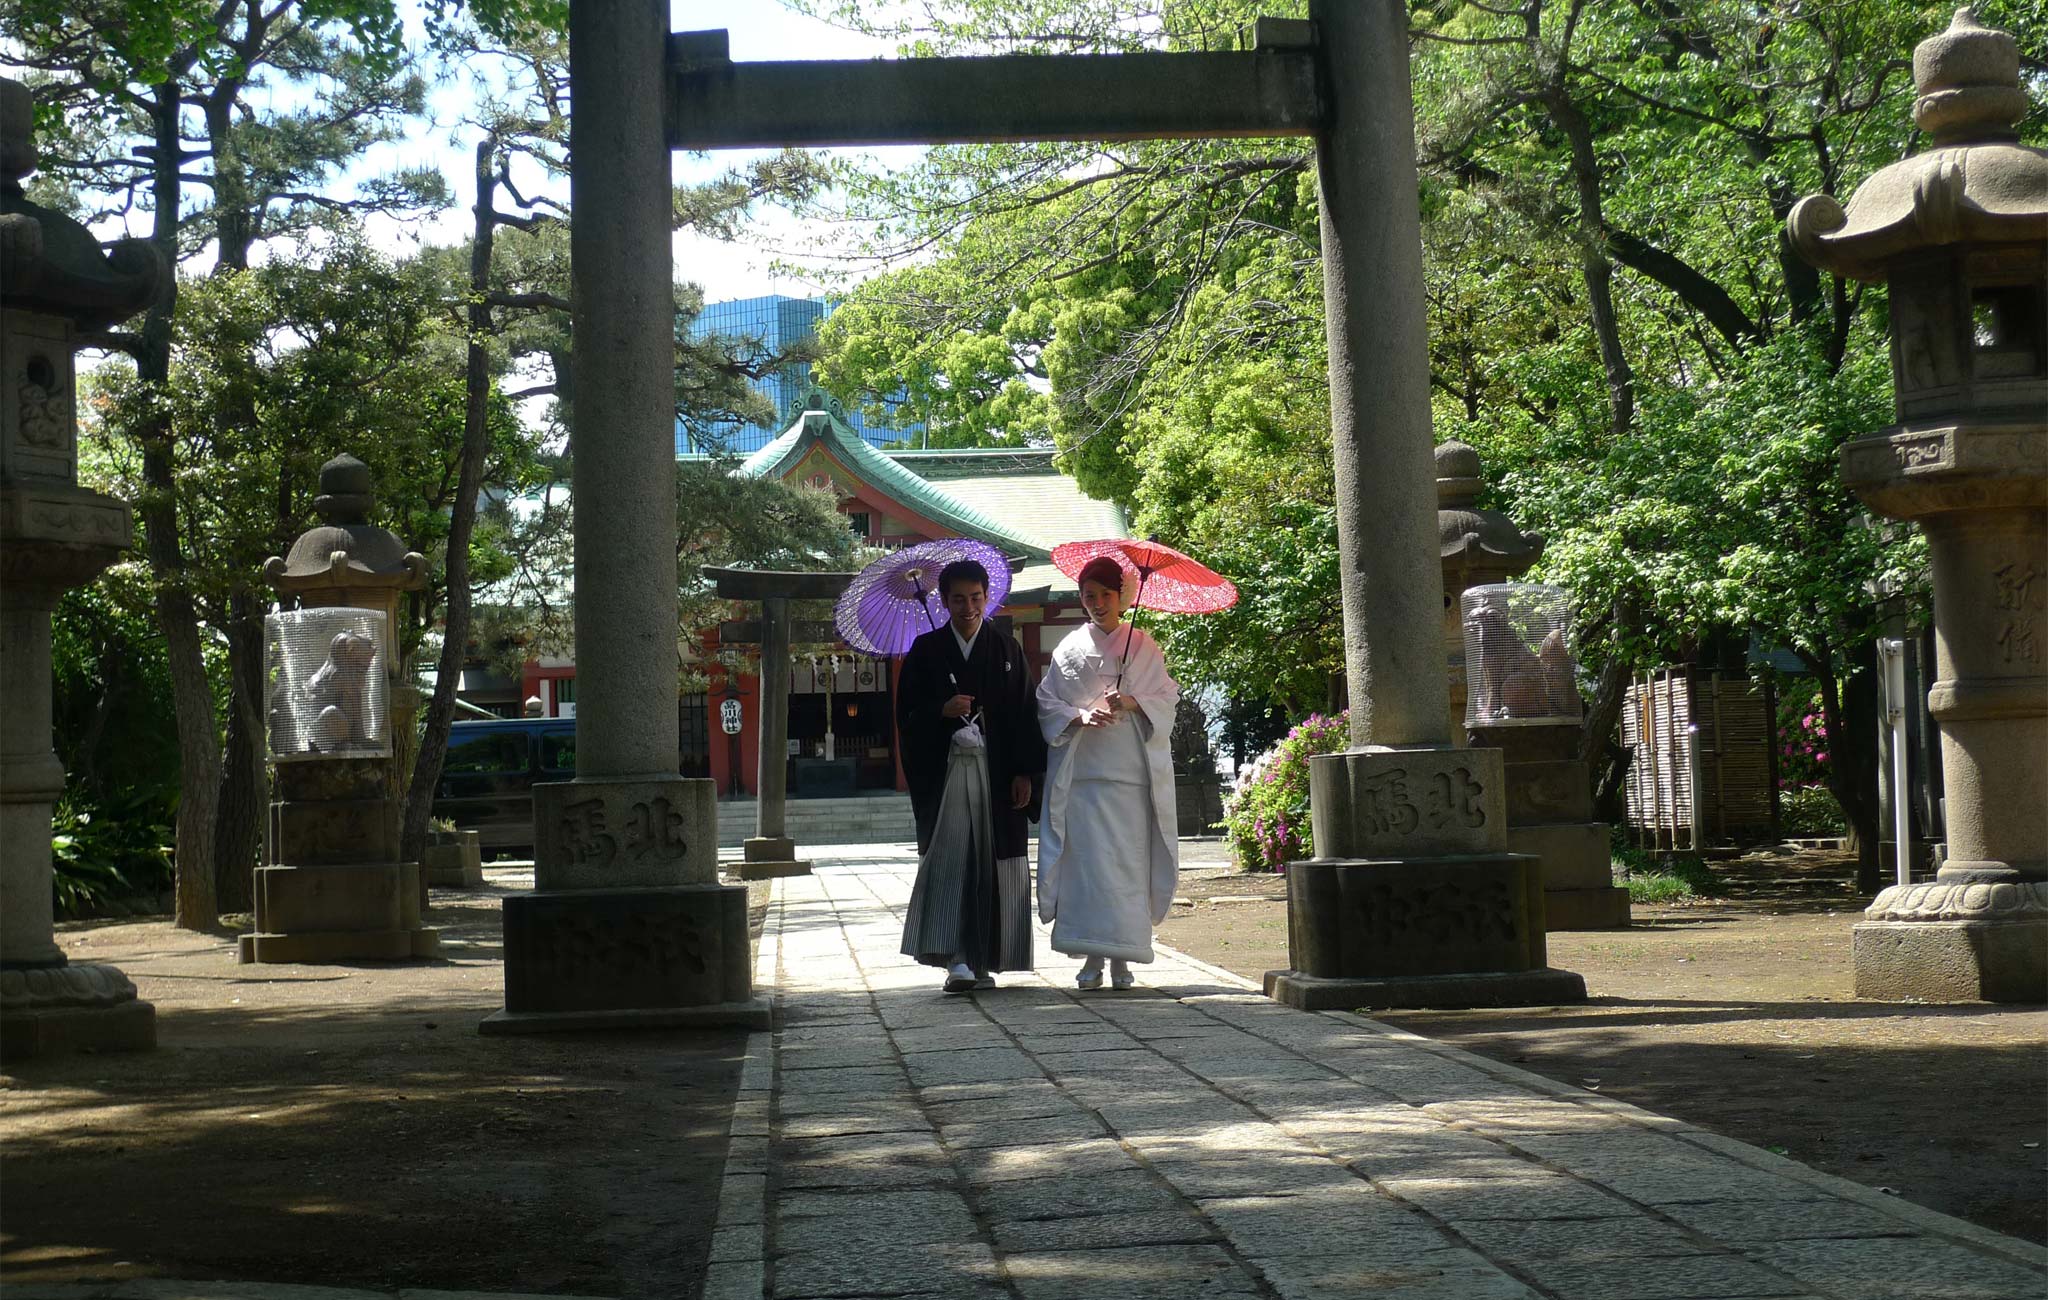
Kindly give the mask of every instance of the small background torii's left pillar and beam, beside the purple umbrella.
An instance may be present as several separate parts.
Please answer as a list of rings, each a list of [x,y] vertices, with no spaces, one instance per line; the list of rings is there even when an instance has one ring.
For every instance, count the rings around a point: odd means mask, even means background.
[[[854,575],[707,567],[705,577],[717,583],[725,600],[758,600],[762,606],[760,772],[754,786],[754,835],[741,850],[739,878],[809,876],[811,864],[797,858],[797,841],[786,833],[788,602],[836,600]],[[741,639],[735,637],[735,643]]]

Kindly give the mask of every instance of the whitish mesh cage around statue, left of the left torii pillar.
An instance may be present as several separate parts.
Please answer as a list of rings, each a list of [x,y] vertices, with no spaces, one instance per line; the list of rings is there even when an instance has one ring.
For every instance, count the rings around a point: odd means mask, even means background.
[[[330,606],[264,618],[270,755],[389,757],[383,610]]]

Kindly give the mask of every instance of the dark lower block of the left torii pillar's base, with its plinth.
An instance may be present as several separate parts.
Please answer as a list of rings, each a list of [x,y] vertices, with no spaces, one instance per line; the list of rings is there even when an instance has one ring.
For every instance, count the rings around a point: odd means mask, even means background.
[[[754,997],[748,891],[662,884],[514,895],[506,1005],[483,1034],[768,1026]]]

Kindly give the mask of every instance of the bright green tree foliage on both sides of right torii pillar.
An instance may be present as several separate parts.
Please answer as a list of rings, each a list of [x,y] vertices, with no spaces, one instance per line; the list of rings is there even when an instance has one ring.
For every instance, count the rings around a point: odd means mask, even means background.
[[[811,8],[913,53],[1217,49],[1274,12]],[[1874,626],[1872,579],[1917,590],[1923,557],[1909,530],[1862,526],[1837,473],[1841,442],[1890,422],[1882,293],[1817,274],[1780,231],[1800,194],[1845,194],[1915,147],[1901,57],[1948,12],[1409,16],[1436,430],[1483,452],[1483,504],[1550,540],[1532,577],[1579,598],[1587,667],[1763,626],[1839,676]],[[1239,577],[1239,610],[1161,639],[1178,671],[1296,714],[1341,669],[1309,164],[1300,141],[1116,141],[852,176],[864,252],[899,262],[850,295],[819,362],[850,399],[907,379],[934,444],[1051,440],[1139,532]]]

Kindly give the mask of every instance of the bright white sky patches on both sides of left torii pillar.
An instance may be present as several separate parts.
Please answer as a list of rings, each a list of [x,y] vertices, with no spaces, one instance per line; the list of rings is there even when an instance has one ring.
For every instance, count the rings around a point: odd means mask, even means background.
[[[756,59],[866,59],[893,53],[893,45],[877,41],[819,18],[784,8],[778,0],[672,0],[670,31],[725,29],[731,39],[731,53],[737,61]],[[467,84],[451,84],[434,92],[432,106],[436,121],[422,123],[403,143],[377,149],[360,168],[360,174],[377,174],[399,166],[434,166],[455,188],[455,203],[424,221],[375,221],[371,237],[387,252],[410,252],[420,244],[457,244],[469,237],[475,186],[469,178],[471,143],[459,139],[461,117],[471,98]],[[891,149],[831,149],[834,156],[866,156],[881,166],[903,166],[915,158],[918,147]],[[674,178],[678,184],[711,180],[727,168],[758,158],[760,151],[723,154],[674,154]],[[522,188],[532,176],[520,178]],[[559,186],[565,194],[567,186]],[[705,289],[707,303],[719,303],[764,293],[786,293],[793,297],[813,297],[823,291],[825,276],[838,268],[829,258],[815,256],[817,242],[844,233],[844,229],[819,221],[799,221],[786,211],[764,207],[758,211],[748,231],[735,244],[725,244],[682,231],[674,240],[676,276],[694,280]],[[811,256],[807,256],[811,254]],[[791,266],[776,268],[776,262],[801,262],[815,272],[791,274]]]

